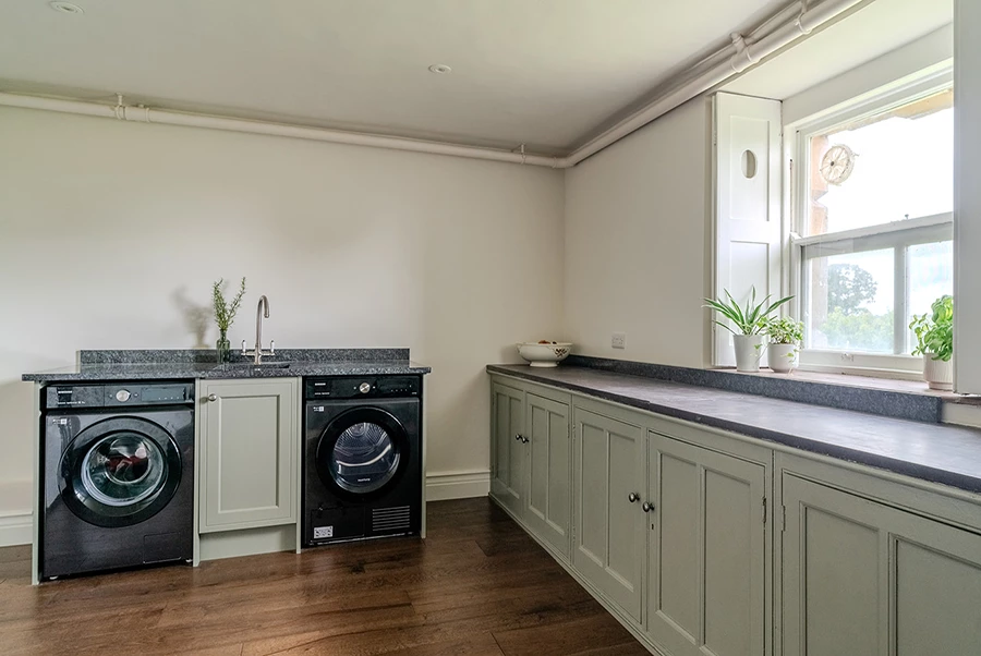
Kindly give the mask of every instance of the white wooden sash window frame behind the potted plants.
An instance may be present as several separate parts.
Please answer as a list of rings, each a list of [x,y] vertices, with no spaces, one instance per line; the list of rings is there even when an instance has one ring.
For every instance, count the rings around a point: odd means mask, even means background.
[[[930,243],[953,238],[954,214],[945,212],[930,217],[919,217],[905,221],[896,221],[859,228],[828,234],[801,236],[801,226],[808,218],[809,183],[810,183],[810,139],[812,136],[827,134],[836,127],[880,114],[916,100],[932,96],[953,87],[952,66],[929,70],[922,75],[907,77],[896,84],[882,87],[859,99],[829,108],[816,116],[784,126],[785,135],[792,135],[786,141],[786,166],[790,171],[788,198],[785,207],[789,209],[789,221],[785,221],[785,240],[787,250],[787,270],[784,280],[789,284],[789,293],[795,295],[790,304],[790,314],[797,319],[803,318],[807,290],[802,287],[804,250],[821,250],[827,254],[850,253],[905,246],[918,243]],[[797,162],[800,162],[799,166]],[[900,274],[898,268],[903,258],[897,257],[897,279],[906,275],[905,262]],[[899,339],[899,325],[906,316],[905,286],[895,286],[896,326],[894,342]],[[900,300],[901,296],[901,300]],[[900,315],[900,312],[903,313]],[[905,327],[904,327],[905,330]],[[905,332],[904,332],[905,338]],[[901,343],[901,342],[899,342]],[[903,354],[882,354],[848,352],[824,349],[801,349],[800,368],[812,372],[838,374],[864,374],[892,378],[920,379],[923,373],[921,356]]]

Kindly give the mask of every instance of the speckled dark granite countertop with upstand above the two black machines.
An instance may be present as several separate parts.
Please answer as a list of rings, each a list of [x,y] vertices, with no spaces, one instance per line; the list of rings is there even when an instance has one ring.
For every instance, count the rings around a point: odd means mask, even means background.
[[[217,364],[215,351],[82,351],[71,367],[24,374],[37,382],[72,380],[150,380],[165,378],[283,378],[295,376],[383,376],[428,374],[409,360],[408,349],[293,349],[277,351],[256,366],[233,353]]]

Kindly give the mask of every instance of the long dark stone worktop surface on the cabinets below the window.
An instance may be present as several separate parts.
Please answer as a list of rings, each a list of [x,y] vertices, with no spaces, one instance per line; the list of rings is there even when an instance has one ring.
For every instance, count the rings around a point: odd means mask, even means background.
[[[981,430],[972,428],[876,416],[580,366],[488,365],[487,370],[981,493]]]

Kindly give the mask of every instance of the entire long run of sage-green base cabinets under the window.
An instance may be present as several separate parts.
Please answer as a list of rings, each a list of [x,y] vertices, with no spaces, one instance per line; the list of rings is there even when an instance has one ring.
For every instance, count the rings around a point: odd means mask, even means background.
[[[652,653],[981,654],[978,495],[506,376],[492,390],[491,496]]]

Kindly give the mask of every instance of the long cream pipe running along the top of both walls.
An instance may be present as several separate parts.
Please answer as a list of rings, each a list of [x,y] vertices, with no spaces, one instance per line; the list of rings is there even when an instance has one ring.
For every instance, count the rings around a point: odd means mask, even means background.
[[[450,155],[455,157],[470,157],[475,159],[566,169],[576,166],[585,158],[643,127],[651,121],[666,114],[676,107],[722,84],[732,75],[746,71],[765,57],[776,52],[801,36],[810,34],[815,27],[833,20],[838,14],[848,11],[863,1],[864,0],[824,0],[824,2],[796,14],[795,17],[783,23],[770,34],[761,37],[756,42],[747,44],[741,36],[734,35],[734,45],[730,48],[735,50],[735,54],[712,66],[693,80],[681,84],[681,86],[673,89],[667,95],[662,96],[653,104],[617,123],[603,134],[578,148],[571,155],[559,158],[542,155],[526,155],[523,153],[497,150],[493,148],[461,146],[440,142],[344,132],[340,130],[303,127],[281,123],[210,117],[166,109],[123,106],[121,104],[117,107],[112,107],[95,102],[61,100],[57,98],[24,96],[20,94],[0,93],[0,106],[44,109],[48,111],[102,117],[124,121],[138,121],[143,123],[209,127],[211,130],[287,136],[332,144],[411,150],[414,153],[431,153],[434,155]],[[807,7],[807,3],[802,2],[801,7]],[[767,21],[767,24],[770,21]]]

